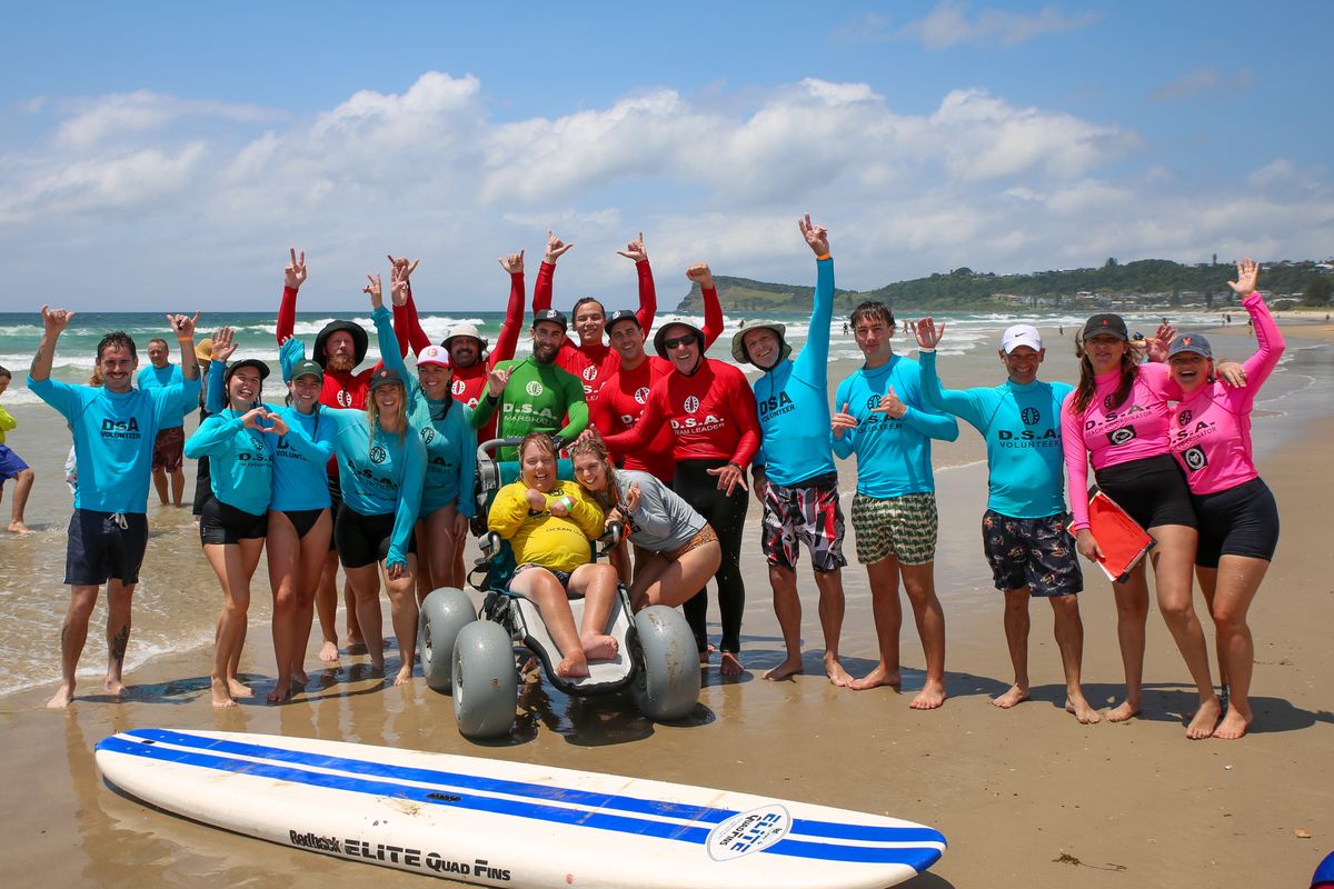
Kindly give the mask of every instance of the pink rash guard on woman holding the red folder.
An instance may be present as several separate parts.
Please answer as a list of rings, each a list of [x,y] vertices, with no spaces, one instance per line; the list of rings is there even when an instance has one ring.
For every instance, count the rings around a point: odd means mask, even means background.
[[[1099,375],[1095,384],[1083,415],[1073,413],[1075,392],[1066,396],[1061,407],[1061,446],[1066,454],[1070,514],[1074,517],[1071,532],[1089,526],[1089,460],[1094,469],[1105,469],[1166,454],[1167,401],[1181,393],[1165,364],[1141,364],[1130,397],[1117,407],[1111,407],[1111,401],[1121,387],[1121,371]]]

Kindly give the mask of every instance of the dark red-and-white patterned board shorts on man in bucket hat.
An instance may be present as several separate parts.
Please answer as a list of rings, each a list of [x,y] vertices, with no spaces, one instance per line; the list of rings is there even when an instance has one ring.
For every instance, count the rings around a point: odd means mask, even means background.
[[[796,568],[800,544],[811,553],[811,568],[828,573],[843,558],[843,508],[838,501],[838,473],[827,472],[799,485],[764,485],[760,549],[770,565]]]

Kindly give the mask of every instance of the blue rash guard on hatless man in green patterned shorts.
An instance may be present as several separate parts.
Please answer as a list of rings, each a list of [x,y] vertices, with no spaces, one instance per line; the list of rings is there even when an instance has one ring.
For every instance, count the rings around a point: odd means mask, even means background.
[[[871,412],[890,387],[907,407],[900,419]],[[840,460],[856,454],[859,494],[884,500],[935,490],[931,439],[954,441],[959,424],[926,407],[916,361],[894,355],[874,371],[858,369],[839,384],[834,404],[839,411],[846,404],[858,421],[855,429],[832,439],[832,445]]]

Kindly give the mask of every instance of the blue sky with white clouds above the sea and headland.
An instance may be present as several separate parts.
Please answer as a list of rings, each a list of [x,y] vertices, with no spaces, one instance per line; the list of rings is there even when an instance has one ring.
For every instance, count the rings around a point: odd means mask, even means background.
[[[1258,12],[1257,12],[1258,11]],[[558,308],[684,269],[838,284],[967,265],[1334,255],[1334,3],[11,5],[0,311]]]

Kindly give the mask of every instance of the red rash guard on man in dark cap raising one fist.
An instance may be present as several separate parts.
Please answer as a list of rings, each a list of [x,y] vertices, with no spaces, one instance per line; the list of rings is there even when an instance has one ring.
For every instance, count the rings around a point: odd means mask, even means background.
[[[723,332],[723,307],[718,301],[718,291],[704,291],[704,351]],[[598,432],[607,436],[616,435],[634,428],[639,423],[639,416],[648,403],[648,391],[658,380],[671,373],[671,361],[658,356],[647,356],[634,371],[624,367],[618,368],[610,377],[602,381],[598,400],[588,405],[588,413]],[[642,469],[663,481],[670,482],[676,477],[676,461],[672,450],[676,437],[671,427],[663,424],[646,448],[638,448],[630,453],[614,453],[616,458],[624,460],[626,469]]]

